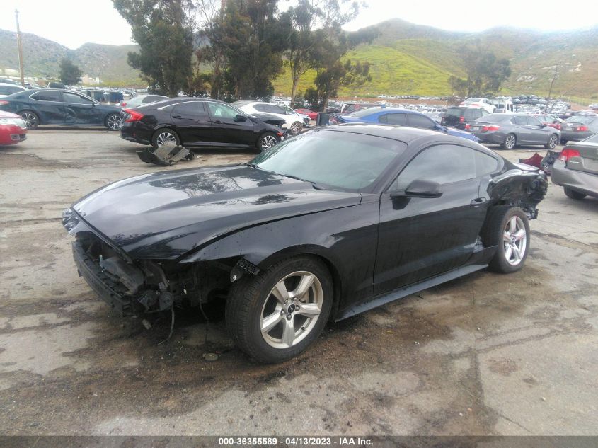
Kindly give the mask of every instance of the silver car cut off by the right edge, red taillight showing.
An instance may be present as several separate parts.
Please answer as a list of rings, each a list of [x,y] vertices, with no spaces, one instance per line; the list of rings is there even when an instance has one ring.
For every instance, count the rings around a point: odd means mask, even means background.
[[[598,197],[598,134],[582,142],[570,142],[552,167],[552,182],[571,199]]]

